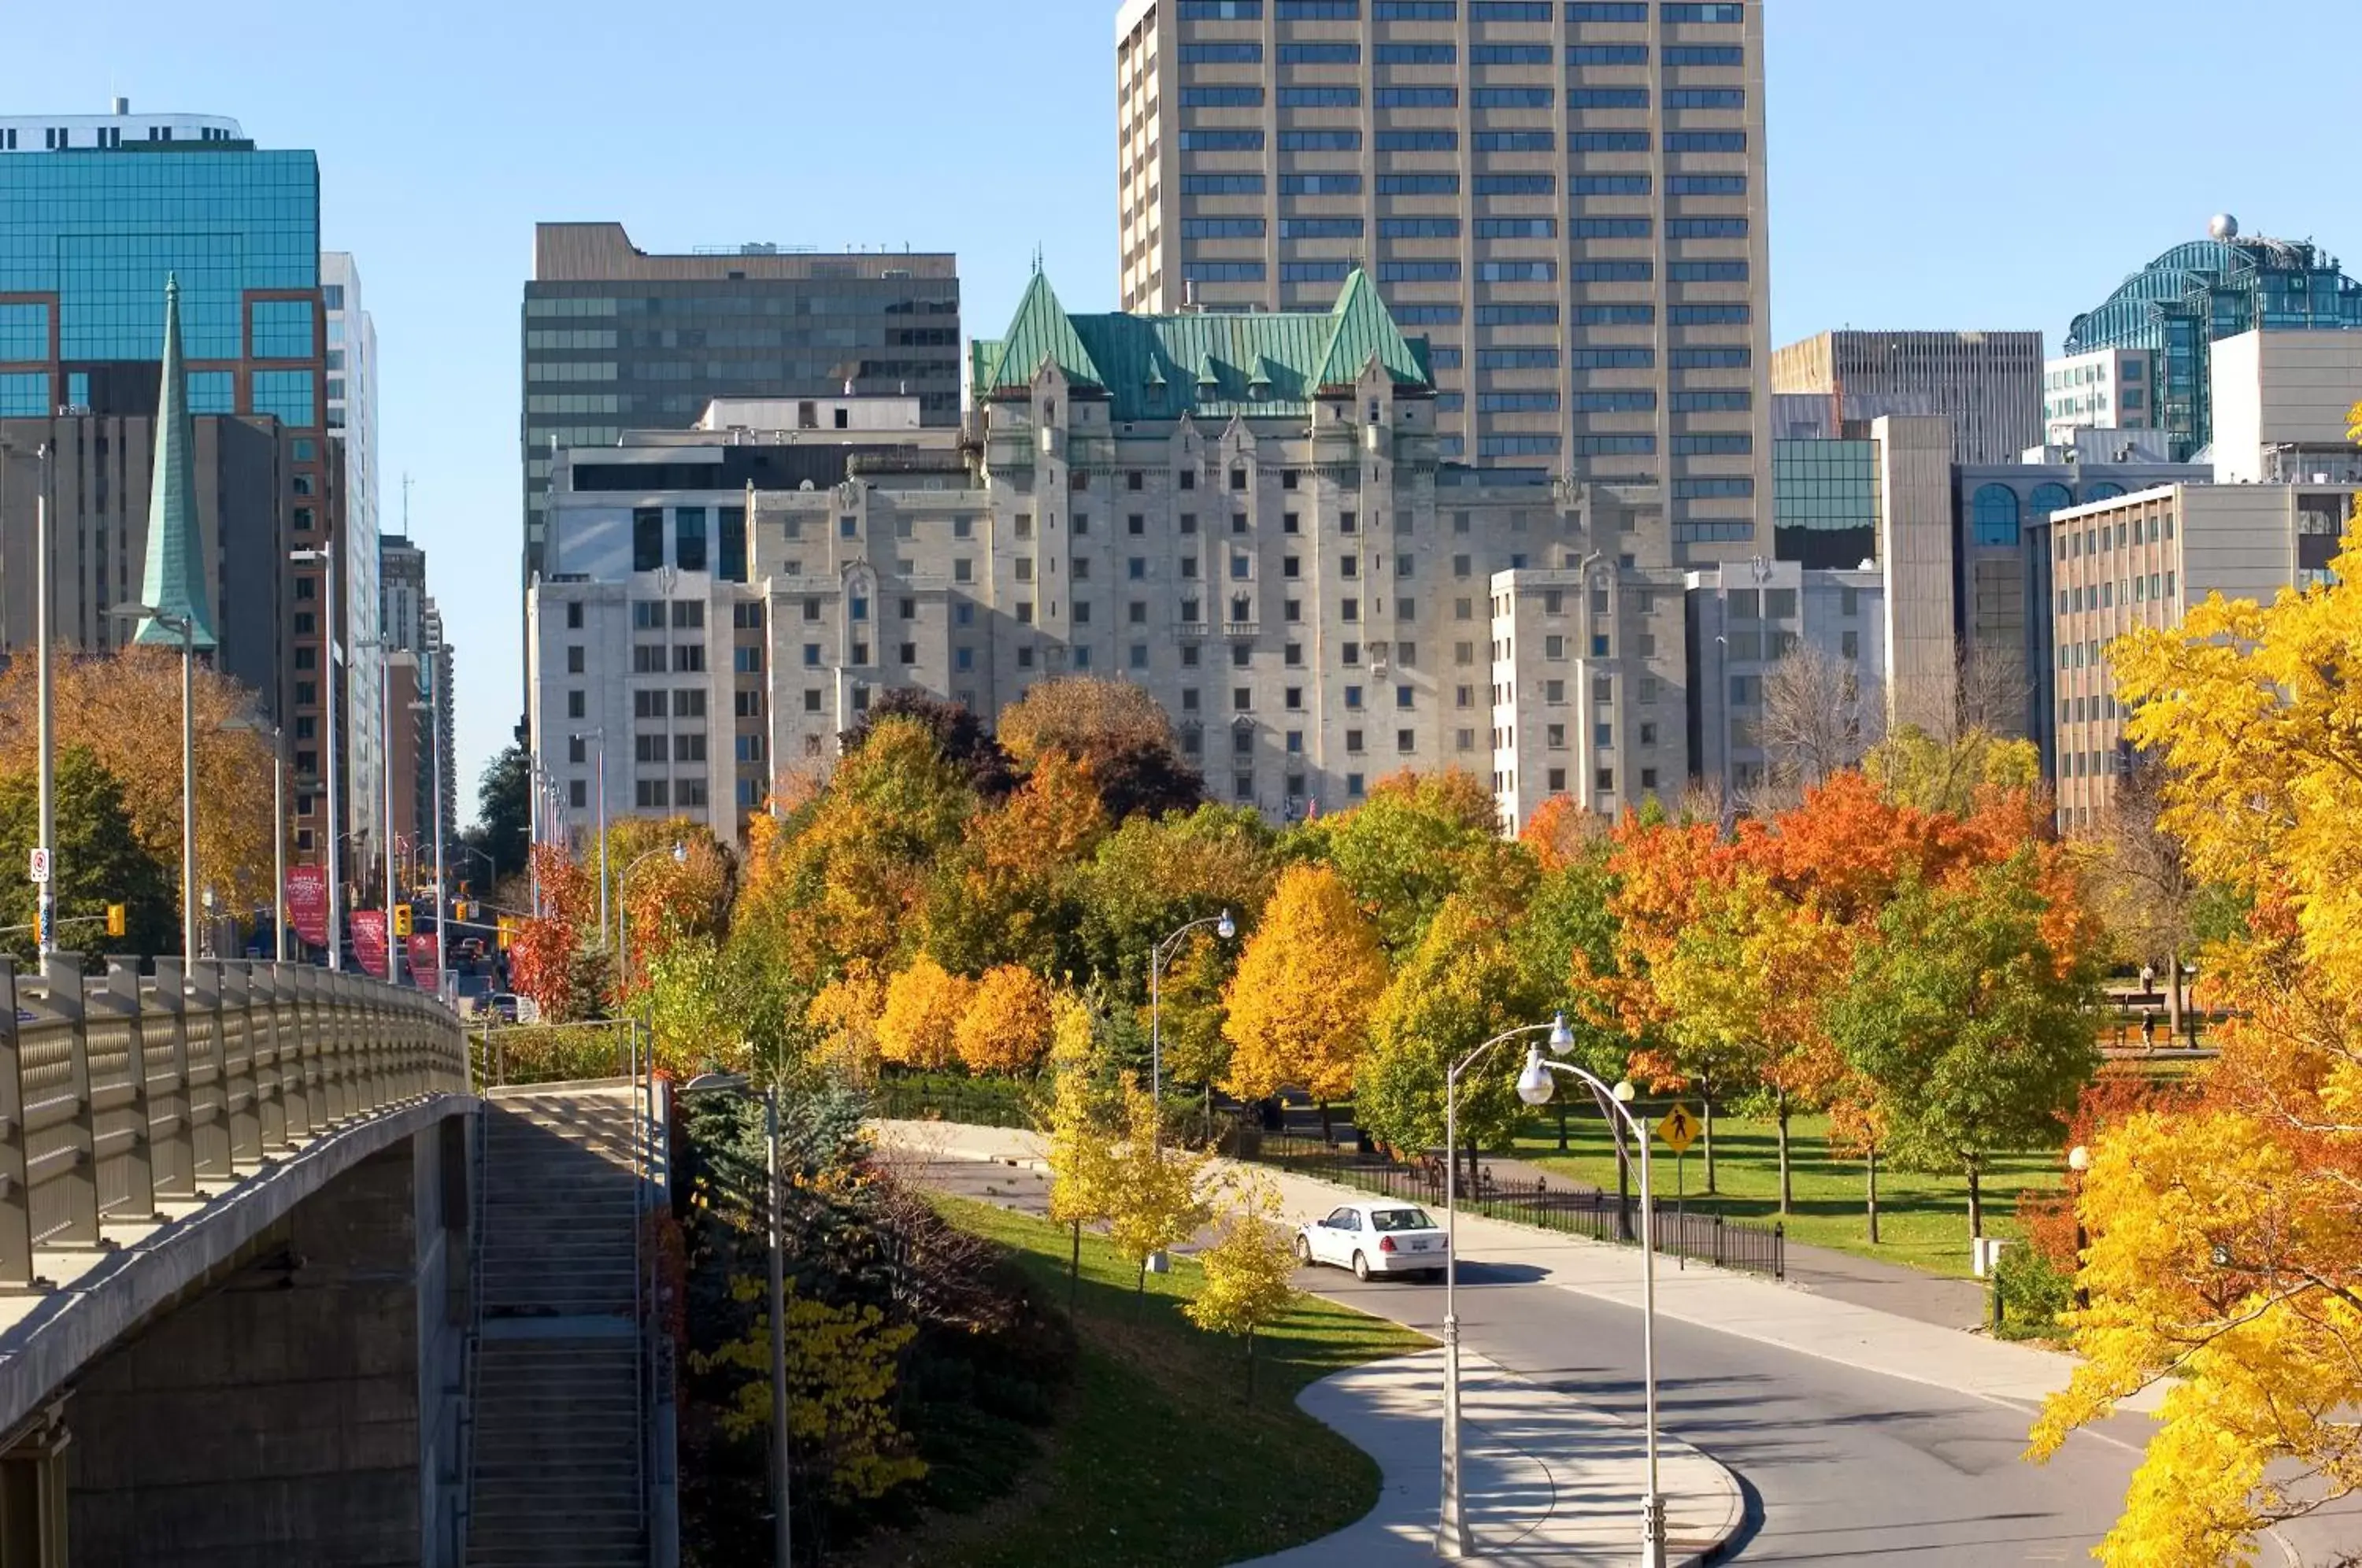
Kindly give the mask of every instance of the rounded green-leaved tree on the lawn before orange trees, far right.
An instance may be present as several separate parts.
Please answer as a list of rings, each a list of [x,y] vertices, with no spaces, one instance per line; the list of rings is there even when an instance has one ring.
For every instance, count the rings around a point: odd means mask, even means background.
[[[1951,883],[1913,881],[1828,1006],[1847,1063],[1875,1084],[1897,1162],[1968,1176],[1972,1237],[1989,1157],[2057,1138],[2100,1065],[2090,963],[2050,942],[2048,914],[2034,850]]]

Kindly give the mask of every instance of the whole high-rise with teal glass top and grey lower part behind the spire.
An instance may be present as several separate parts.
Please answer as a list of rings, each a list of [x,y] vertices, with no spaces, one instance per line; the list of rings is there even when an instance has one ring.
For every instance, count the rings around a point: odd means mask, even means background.
[[[43,482],[59,524],[59,635],[97,649],[128,635],[106,612],[142,583],[170,281],[215,659],[286,730],[293,848],[312,860],[326,850],[324,746],[342,746],[347,723],[376,725],[376,704],[340,704],[331,675],[350,574],[335,574],[331,605],[326,574],[288,560],[347,543],[314,153],[255,146],[217,116],[132,113],[125,99],[104,116],[0,118],[0,444],[14,449],[0,460],[0,642],[31,638]]]

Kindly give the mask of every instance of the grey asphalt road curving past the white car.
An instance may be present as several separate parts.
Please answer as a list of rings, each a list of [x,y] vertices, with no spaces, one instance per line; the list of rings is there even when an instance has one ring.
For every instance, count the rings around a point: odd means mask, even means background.
[[[928,1181],[1035,1211],[1044,1193],[1039,1174],[994,1164],[940,1162]],[[1535,1275],[1464,1266],[1467,1344],[1512,1372],[1637,1422],[1637,1313]],[[1441,1332],[1438,1287],[1361,1285],[1330,1268],[1299,1282]],[[2079,1433],[2048,1466],[2031,1466],[2020,1459],[2031,1424],[2027,1405],[1663,1320],[1658,1370],[1665,1431],[1729,1464],[1748,1488],[1748,1525],[1724,1559],[1738,1563],[2086,1563],[2121,1507],[2145,1426],[2119,1417],[2121,1436]]]

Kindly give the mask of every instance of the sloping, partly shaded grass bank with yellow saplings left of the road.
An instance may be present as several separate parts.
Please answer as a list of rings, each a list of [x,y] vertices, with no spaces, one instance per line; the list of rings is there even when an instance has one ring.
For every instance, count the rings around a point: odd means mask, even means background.
[[[1018,1254],[1044,1299],[1065,1304],[1068,1230],[992,1204],[938,1197],[964,1230]],[[1257,1339],[1254,1403],[1238,1339],[1181,1315],[1198,1266],[1150,1275],[1084,1235],[1082,1358],[1049,1455],[1018,1495],[973,1516],[935,1516],[864,1551],[864,1563],[1032,1568],[1235,1563],[1353,1523],[1377,1504],[1377,1466],[1297,1410],[1330,1372],[1429,1341],[1379,1318],[1304,1299]]]

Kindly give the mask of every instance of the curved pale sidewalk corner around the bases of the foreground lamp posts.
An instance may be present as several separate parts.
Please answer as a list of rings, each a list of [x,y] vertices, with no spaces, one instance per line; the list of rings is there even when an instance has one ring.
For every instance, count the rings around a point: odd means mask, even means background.
[[[1358,1523],[1247,1568],[1391,1568],[1436,1561],[1436,1450],[1443,1351],[1375,1360],[1320,1379],[1297,1403],[1377,1459],[1377,1507]],[[1630,1563],[1639,1549],[1642,1436],[1462,1351],[1464,1500],[1476,1554],[1521,1568]],[[1703,1561],[1746,1518],[1727,1469],[1665,1440],[1665,1542],[1675,1568]]]

